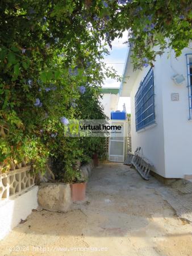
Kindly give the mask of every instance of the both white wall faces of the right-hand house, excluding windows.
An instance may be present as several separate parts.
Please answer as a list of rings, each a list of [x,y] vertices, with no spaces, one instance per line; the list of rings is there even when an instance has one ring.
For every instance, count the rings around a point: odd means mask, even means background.
[[[131,92],[132,151],[140,146],[156,172],[167,178],[192,175],[192,120],[188,119],[185,53],[192,51],[185,48],[177,59],[173,51],[157,57],[154,67],[156,125],[138,132],[135,129],[135,94],[149,68],[139,72]],[[186,79],[182,85],[172,80],[177,73]],[[179,94],[178,101],[172,101],[172,93]]]

